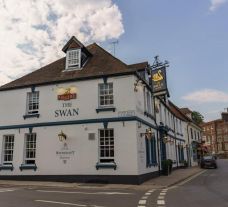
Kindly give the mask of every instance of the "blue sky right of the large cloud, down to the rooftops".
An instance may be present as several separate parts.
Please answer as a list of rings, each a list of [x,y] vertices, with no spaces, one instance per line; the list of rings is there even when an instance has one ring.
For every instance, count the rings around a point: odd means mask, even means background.
[[[115,3],[125,30],[116,56],[127,63],[152,64],[157,54],[167,59],[171,100],[206,120],[219,118],[228,107],[228,3],[214,1],[214,9],[209,0]]]

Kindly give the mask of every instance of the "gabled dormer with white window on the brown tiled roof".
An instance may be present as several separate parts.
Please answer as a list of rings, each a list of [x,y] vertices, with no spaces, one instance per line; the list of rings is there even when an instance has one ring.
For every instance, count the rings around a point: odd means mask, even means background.
[[[66,53],[65,71],[81,70],[91,57],[86,47],[74,36],[70,38],[62,51]]]

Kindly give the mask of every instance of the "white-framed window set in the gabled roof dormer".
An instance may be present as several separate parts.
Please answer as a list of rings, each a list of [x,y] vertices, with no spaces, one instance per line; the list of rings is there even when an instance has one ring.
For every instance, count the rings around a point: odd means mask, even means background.
[[[81,67],[81,49],[68,50],[66,56],[66,70]]]

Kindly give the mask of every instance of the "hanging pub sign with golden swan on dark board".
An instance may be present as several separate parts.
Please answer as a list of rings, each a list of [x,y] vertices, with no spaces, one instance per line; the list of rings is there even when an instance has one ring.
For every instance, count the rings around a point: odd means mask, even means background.
[[[152,70],[151,79],[152,79],[153,93],[167,91],[166,68],[165,67]]]

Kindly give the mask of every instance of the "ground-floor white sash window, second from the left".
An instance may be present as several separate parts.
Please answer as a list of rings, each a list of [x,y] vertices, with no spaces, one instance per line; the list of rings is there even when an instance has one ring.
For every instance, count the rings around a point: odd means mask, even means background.
[[[36,134],[25,134],[24,164],[35,164],[36,158]]]

